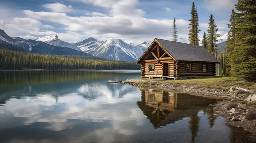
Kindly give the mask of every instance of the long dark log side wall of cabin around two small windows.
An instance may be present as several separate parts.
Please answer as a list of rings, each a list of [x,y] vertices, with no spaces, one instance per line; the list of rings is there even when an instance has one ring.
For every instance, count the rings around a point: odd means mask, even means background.
[[[191,64],[191,71],[186,71],[186,64]],[[179,65],[178,67],[179,76],[213,76],[215,75],[215,63],[180,61],[178,65]],[[203,72],[203,65],[206,65],[206,72]]]

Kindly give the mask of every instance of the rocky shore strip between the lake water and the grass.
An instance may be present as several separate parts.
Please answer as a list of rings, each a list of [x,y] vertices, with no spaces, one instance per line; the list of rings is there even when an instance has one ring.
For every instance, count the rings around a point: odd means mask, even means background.
[[[136,79],[126,81],[129,81],[133,86],[179,90],[193,94],[222,98],[223,101],[209,105],[214,106],[215,114],[226,118],[227,124],[241,127],[256,137],[256,119],[245,118],[248,110],[252,108],[250,105],[256,104],[256,101],[250,101],[250,99],[248,100],[248,96],[252,96],[254,93],[251,94],[242,92],[236,90],[235,88],[221,90],[209,88],[201,84],[188,84],[168,81],[162,82],[161,80]]]

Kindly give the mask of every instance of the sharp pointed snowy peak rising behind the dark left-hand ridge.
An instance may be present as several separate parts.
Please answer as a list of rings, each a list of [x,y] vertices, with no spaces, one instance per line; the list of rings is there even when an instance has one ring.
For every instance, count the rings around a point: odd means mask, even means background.
[[[65,42],[65,41],[62,41],[62,40],[58,39],[57,35],[39,37],[39,38],[36,39],[36,41],[42,41],[42,42],[50,44],[50,45],[60,46],[60,47],[68,47],[70,49],[75,49],[77,51],[82,51],[81,49],[76,47],[75,44],[71,44],[71,43],[68,43],[68,42]]]

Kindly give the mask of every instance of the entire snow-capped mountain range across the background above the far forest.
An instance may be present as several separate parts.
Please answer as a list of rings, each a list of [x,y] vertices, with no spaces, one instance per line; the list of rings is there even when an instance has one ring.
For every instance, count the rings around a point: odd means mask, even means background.
[[[220,39],[217,42],[218,46],[224,45],[225,41],[225,39]],[[180,37],[178,42],[189,43],[189,40]],[[7,44],[9,47],[11,45],[11,49],[15,51],[40,53],[44,55],[93,55],[118,61],[136,62],[151,43],[152,41],[144,41],[141,44],[135,45],[134,43],[128,44],[117,38],[98,41],[93,37],[76,43],[68,43],[58,39],[57,35],[26,40],[20,37],[11,38],[0,29],[1,45]]]

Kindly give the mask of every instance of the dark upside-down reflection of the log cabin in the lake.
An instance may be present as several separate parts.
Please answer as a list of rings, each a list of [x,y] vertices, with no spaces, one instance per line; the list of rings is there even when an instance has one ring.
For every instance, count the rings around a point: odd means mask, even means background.
[[[210,99],[203,96],[166,92],[159,89],[141,90],[141,92],[141,102],[137,102],[137,105],[155,129],[185,117],[191,118],[197,115],[200,110],[206,111],[209,121],[212,120],[214,123],[212,106],[208,105],[214,104],[217,101],[216,98]],[[213,123],[210,123],[210,125]]]

